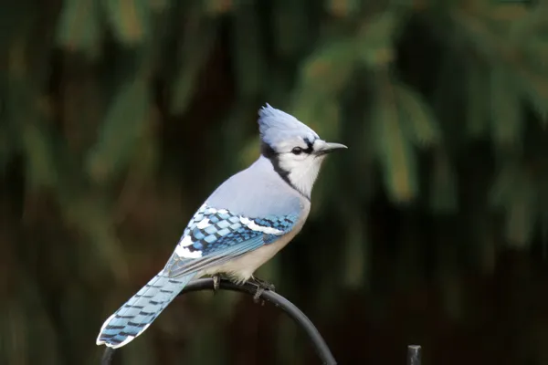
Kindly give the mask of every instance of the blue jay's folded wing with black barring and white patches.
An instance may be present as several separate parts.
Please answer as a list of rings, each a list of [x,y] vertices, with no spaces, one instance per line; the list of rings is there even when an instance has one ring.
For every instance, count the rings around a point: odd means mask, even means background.
[[[179,277],[221,265],[275,242],[298,219],[298,214],[252,218],[204,204],[184,229],[164,270]]]

